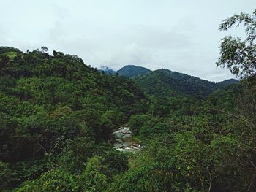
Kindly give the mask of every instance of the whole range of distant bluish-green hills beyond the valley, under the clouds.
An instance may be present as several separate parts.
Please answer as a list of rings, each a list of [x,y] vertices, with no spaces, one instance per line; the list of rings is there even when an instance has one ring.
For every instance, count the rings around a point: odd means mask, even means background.
[[[106,74],[115,73],[108,67],[104,67],[100,71],[104,71]],[[134,79],[141,88],[151,95],[162,94],[168,96],[168,94],[176,92],[187,96],[206,97],[217,89],[223,90],[227,86],[238,82],[238,80],[230,79],[216,83],[202,80],[189,74],[173,72],[169,69],[151,71],[150,69],[134,65],[124,66],[116,73]]]

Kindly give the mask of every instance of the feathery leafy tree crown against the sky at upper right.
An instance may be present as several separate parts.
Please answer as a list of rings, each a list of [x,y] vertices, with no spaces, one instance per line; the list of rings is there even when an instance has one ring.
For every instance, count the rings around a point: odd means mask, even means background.
[[[245,27],[246,39],[226,36],[222,38],[218,67],[227,67],[236,77],[253,77],[256,74],[256,9],[252,15],[241,12],[222,20],[220,31],[227,31],[233,26]]]

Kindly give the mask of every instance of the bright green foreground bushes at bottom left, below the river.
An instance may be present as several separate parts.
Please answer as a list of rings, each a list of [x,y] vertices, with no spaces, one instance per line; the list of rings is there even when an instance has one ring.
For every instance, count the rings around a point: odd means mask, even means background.
[[[116,155],[120,160],[117,153]],[[24,182],[15,191],[103,191],[110,178],[108,173],[115,169],[110,166],[109,158],[103,156],[92,156],[77,173],[61,167],[50,169],[38,179]]]

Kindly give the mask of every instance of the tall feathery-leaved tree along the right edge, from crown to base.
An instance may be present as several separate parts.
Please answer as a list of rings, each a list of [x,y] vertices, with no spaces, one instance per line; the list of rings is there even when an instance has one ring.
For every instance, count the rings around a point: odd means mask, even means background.
[[[217,66],[227,67],[227,69],[230,69],[232,74],[235,74],[236,77],[240,77],[243,80],[243,83],[241,84],[243,87],[239,91],[240,96],[238,99],[238,115],[233,115],[233,112],[228,112],[228,114],[238,119],[233,126],[242,127],[242,129],[237,132],[237,135],[240,134],[241,137],[238,137],[238,143],[233,146],[233,148],[237,147],[237,149],[239,149],[238,158],[233,159],[233,161],[230,161],[230,163],[237,168],[239,174],[241,175],[238,177],[243,177],[244,181],[249,180],[249,183],[246,183],[245,185],[245,182],[241,183],[242,185],[240,191],[245,191],[245,189],[246,191],[255,191],[256,9],[252,15],[242,12],[239,15],[233,15],[232,17],[223,20],[222,24],[219,26],[219,30],[227,31],[229,28],[235,25],[238,27],[241,24],[243,24],[245,28],[246,38],[241,39],[240,37],[232,36],[224,37],[220,47],[220,57],[217,61]],[[226,140],[227,139],[231,138],[226,137]],[[214,142],[211,142],[211,144],[214,144]],[[220,143],[217,143],[216,146],[220,145]],[[224,159],[222,160],[222,164],[225,165]],[[222,170],[225,170],[225,166],[219,166],[219,168],[222,167]],[[236,168],[233,168],[233,170]],[[225,176],[227,171],[221,172],[223,173],[223,178],[230,177]],[[237,181],[240,179],[233,179],[231,181],[233,184],[231,185],[236,185],[235,180]],[[226,181],[225,179],[223,179],[222,182],[223,185],[230,183],[230,181]]]

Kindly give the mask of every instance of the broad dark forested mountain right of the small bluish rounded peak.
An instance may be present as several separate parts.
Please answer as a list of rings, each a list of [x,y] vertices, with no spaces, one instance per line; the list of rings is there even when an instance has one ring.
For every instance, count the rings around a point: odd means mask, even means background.
[[[171,96],[181,93],[187,96],[206,97],[218,88],[224,89],[227,85],[238,81],[225,80],[224,82],[215,83],[188,74],[172,72],[168,69],[158,69],[136,77],[135,82],[153,96]]]

